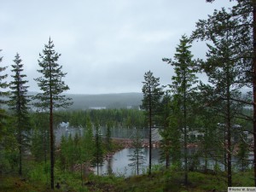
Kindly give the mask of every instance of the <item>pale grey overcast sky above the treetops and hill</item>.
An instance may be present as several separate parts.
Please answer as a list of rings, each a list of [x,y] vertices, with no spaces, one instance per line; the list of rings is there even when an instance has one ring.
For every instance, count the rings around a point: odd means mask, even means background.
[[[18,52],[29,90],[39,91],[33,79],[41,76],[38,55],[50,37],[61,54],[68,93],[141,92],[149,70],[161,84],[171,84],[172,67],[162,58],[172,58],[196,21],[230,6],[228,0],[2,1],[1,65],[13,64]],[[197,57],[206,52],[203,44],[191,50]]]

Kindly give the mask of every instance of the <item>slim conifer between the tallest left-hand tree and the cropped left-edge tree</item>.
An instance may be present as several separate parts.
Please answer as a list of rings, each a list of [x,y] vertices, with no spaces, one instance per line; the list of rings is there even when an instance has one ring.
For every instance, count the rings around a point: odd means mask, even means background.
[[[15,127],[17,131],[17,141],[19,144],[19,174],[22,175],[22,156],[25,149],[29,145],[29,131],[31,129],[29,117],[28,117],[28,102],[29,96],[27,96],[27,80],[23,72],[23,64],[21,63],[20,55],[15,55],[15,64],[12,65],[11,70],[14,75],[11,77],[13,81],[10,82],[9,88],[11,89],[11,95],[9,96],[9,108],[14,112]]]

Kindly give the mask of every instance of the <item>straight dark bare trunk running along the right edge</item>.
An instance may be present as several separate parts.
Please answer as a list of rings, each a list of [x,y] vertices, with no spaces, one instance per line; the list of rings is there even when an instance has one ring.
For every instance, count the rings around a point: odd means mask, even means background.
[[[256,187],[256,0],[253,1],[253,166]]]

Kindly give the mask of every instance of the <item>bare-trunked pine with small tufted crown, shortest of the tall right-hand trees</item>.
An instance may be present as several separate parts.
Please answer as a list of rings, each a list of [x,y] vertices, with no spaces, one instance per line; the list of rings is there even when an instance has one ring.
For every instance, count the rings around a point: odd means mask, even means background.
[[[148,175],[151,175],[151,160],[152,160],[152,127],[154,125],[154,117],[159,113],[160,98],[164,92],[160,87],[160,79],[154,78],[152,72],[148,71],[144,74],[143,82],[143,108],[146,112],[149,128],[149,162],[148,162]]]

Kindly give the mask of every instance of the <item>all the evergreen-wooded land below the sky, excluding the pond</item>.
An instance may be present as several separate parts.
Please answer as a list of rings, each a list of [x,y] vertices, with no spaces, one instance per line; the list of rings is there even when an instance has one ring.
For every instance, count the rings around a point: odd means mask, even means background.
[[[213,2],[213,1],[207,1]],[[1,191],[223,191],[256,187],[256,3],[236,0],[215,10],[182,35],[176,53],[160,58],[174,71],[170,84],[144,73],[142,93],[73,96],[53,40],[38,58],[40,92],[30,94],[24,64],[15,55],[10,82],[0,58]],[[207,44],[195,58],[193,44]],[[1,53],[1,52],[0,52]],[[207,75],[207,82],[198,78]],[[66,84],[67,83],[67,84]],[[245,93],[245,90],[252,90]],[[61,124],[83,134],[61,136]],[[67,124],[68,123],[68,124]],[[107,129],[102,135],[101,128]],[[148,130],[148,168],[125,178],[99,167],[121,148],[114,128]],[[159,129],[160,161],[152,164],[153,130]],[[144,163],[145,138],[131,139],[131,166]],[[191,153],[189,148],[196,150]],[[251,158],[253,156],[253,158]],[[200,158],[203,162],[200,162]],[[212,163],[213,162],[213,163]],[[211,164],[211,165],[210,165]],[[213,166],[212,166],[213,165]],[[95,167],[96,172],[91,169]]]

